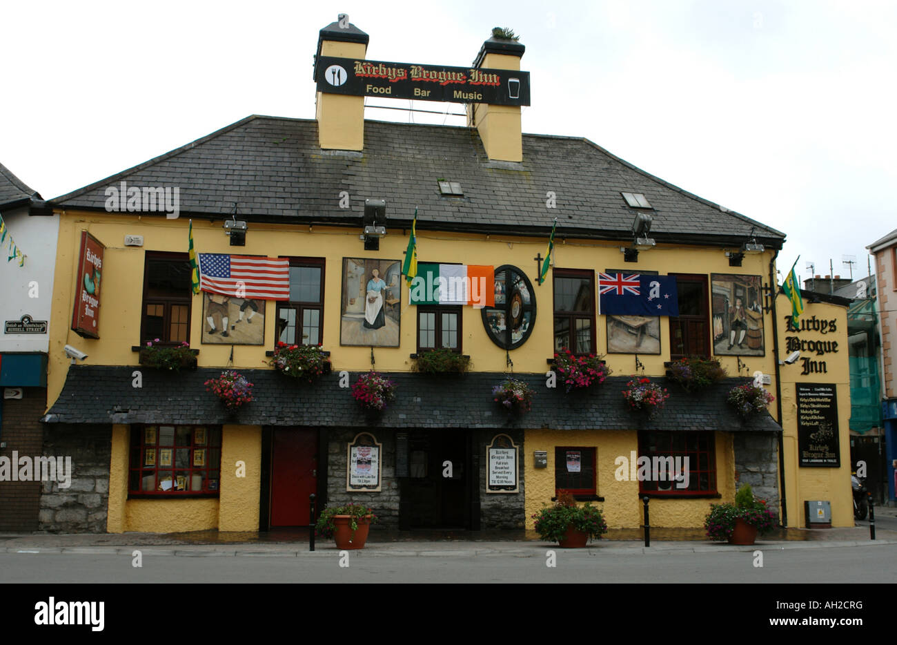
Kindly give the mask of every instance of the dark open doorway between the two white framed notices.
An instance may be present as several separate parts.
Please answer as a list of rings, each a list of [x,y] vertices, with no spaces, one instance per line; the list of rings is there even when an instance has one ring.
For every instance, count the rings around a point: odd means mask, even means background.
[[[408,433],[408,473],[402,482],[400,517],[403,527],[470,528],[470,441],[466,430]]]

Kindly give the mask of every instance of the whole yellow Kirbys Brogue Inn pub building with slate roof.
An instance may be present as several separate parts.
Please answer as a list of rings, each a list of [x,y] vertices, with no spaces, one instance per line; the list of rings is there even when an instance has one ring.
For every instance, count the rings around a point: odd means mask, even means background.
[[[784,383],[785,235],[583,137],[522,134],[529,75],[515,40],[486,40],[468,67],[367,60],[368,41],[351,24],[320,31],[315,119],[250,116],[54,200],[43,420],[57,452],[108,446],[74,464],[72,486],[92,478],[107,530],[308,526],[311,493],[318,509],[367,504],[391,529],[531,529],[564,489],[603,508],[610,537],[639,535],[648,496],[658,536],[700,538],[710,503],[731,501],[739,482],[787,510],[788,526],[804,526],[804,499],[831,500],[832,524],[849,526],[849,493],[837,490],[846,460],[801,466],[777,404],[742,421],[726,403],[755,375],[776,396]],[[463,102],[468,123],[366,120],[366,95]],[[256,293],[259,257],[288,270],[283,293]],[[228,279],[251,293],[222,292]],[[84,318],[91,284],[98,302]],[[633,293],[658,315],[600,311],[605,297]],[[189,343],[196,368],[141,365],[148,342]],[[310,384],[284,376],[271,365],[278,342],[320,344],[330,371]],[[66,344],[87,358],[70,364]],[[552,371],[564,348],[604,356],[613,375],[567,393]],[[433,349],[469,357],[470,371],[416,371]],[[702,393],[676,389],[668,363],[692,356],[718,358],[729,376]],[[827,375],[841,417],[843,356]],[[370,369],[395,384],[377,414],[352,393]],[[205,384],[222,370],[252,384],[238,411]],[[535,390],[524,414],[494,400],[509,374]],[[624,404],[633,375],[670,390],[653,419]],[[688,457],[687,486],[621,476],[619,459],[636,455]],[[43,528],[89,530],[74,512],[80,493],[44,497],[74,519],[42,515]]]

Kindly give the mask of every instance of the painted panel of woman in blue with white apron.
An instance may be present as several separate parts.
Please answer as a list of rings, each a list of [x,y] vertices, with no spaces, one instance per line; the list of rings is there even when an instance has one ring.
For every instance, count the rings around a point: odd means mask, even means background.
[[[401,272],[397,260],[343,258],[340,345],[398,347]]]

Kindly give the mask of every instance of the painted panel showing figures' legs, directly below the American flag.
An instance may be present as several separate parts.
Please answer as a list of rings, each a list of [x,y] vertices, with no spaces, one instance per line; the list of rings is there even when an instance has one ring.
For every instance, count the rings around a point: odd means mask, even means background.
[[[264,345],[265,300],[203,292],[202,341],[218,345]]]

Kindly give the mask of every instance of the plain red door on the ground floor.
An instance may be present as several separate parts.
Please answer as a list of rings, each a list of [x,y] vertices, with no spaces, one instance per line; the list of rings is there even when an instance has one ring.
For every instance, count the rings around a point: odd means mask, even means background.
[[[271,526],[309,526],[309,495],[316,492],[318,480],[318,432],[274,429],[271,451]]]

